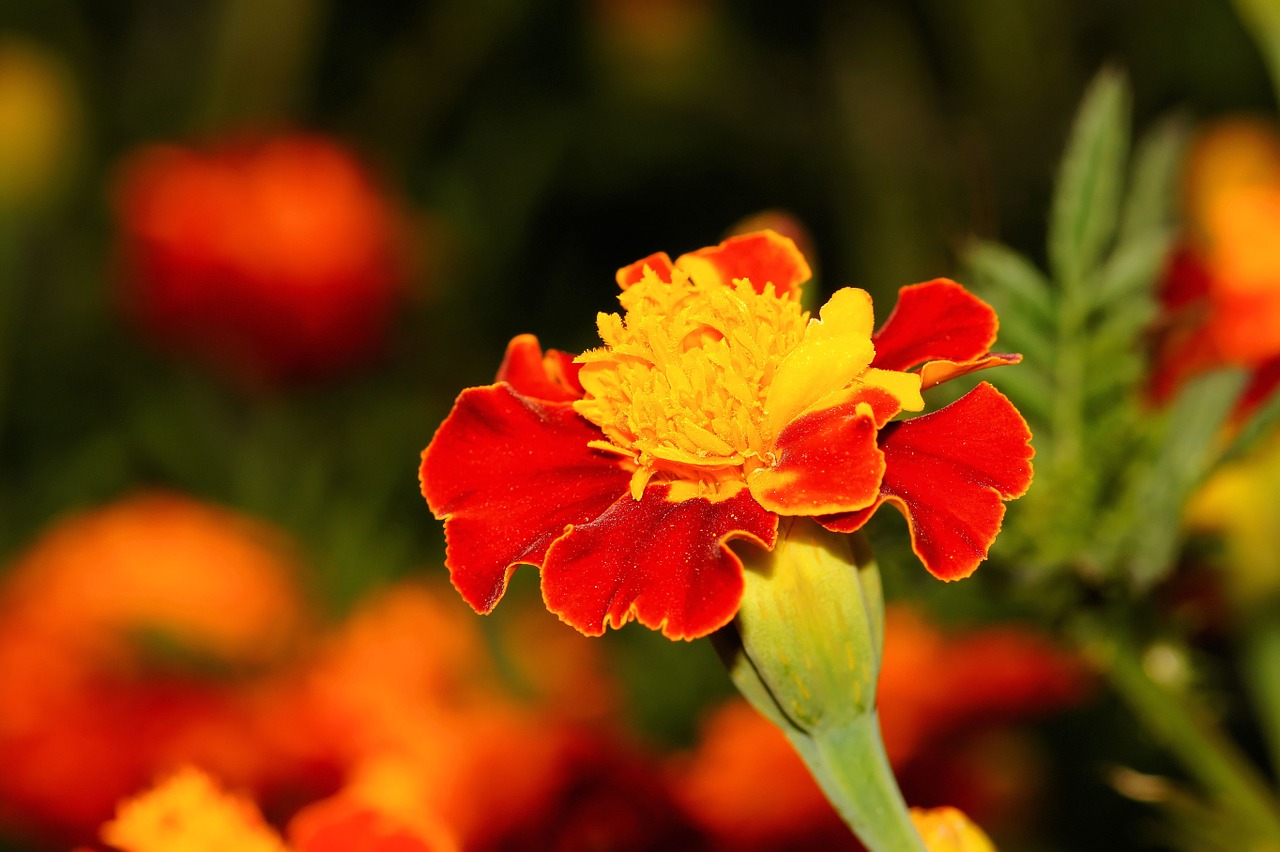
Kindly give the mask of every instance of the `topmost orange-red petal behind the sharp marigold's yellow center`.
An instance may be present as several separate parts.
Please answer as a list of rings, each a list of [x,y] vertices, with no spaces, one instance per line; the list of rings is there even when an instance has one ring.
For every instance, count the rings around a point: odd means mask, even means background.
[[[772,230],[730,237],[719,246],[681,255],[676,266],[704,284],[730,284],[733,279],[745,278],[758,293],[772,283],[778,296],[794,294],[797,298],[800,285],[813,276],[796,244]]]

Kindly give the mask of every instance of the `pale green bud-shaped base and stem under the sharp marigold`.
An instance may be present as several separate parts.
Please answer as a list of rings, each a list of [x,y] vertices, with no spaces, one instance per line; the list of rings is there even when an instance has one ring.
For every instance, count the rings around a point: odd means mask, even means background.
[[[742,604],[713,637],[733,682],[787,734],[864,846],[923,851],[876,713],[884,603],[865,541],[795,518],[772,551],[740,555]]]

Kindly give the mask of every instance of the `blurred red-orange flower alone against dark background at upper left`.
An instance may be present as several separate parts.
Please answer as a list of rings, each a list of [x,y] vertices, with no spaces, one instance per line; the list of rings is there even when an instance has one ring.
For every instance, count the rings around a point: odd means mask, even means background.
[[[332,375],[385,343],[402,224],[335,142],[142,148],[115,207],[127,308],[164,347],[279,381]]]

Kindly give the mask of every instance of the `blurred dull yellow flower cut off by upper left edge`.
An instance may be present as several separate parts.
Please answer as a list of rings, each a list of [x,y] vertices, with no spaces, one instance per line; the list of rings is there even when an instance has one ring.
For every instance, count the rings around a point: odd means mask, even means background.
[[[78,124],[65,64],[33,43],[0,38],[0,214],[56,194]]]

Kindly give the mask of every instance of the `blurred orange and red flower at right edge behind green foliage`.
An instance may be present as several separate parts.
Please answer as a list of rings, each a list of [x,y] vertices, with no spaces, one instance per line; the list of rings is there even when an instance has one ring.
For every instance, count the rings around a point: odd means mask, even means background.
[[[1280,384],[1280,128],[1248,118],[1204,128],[1187,160],[1184,212],[1152,390],[1161,400],[1196,374],[1248,367],[1247,411]]]

